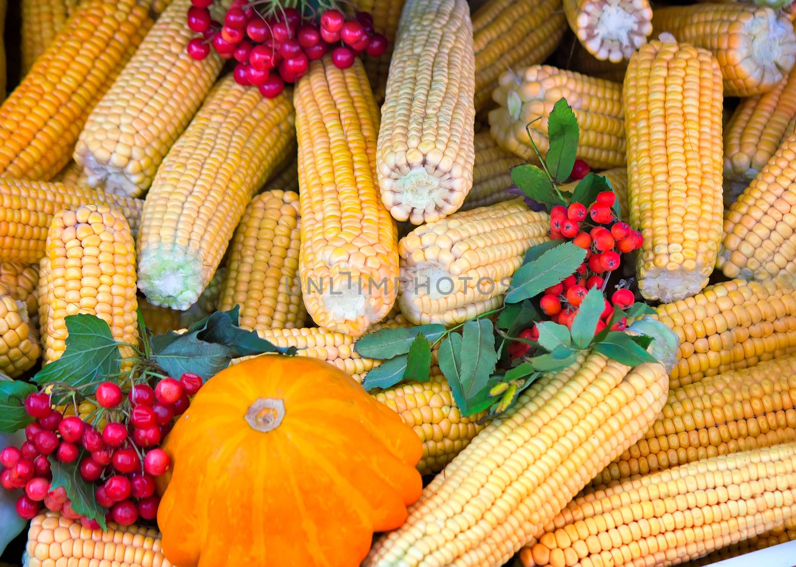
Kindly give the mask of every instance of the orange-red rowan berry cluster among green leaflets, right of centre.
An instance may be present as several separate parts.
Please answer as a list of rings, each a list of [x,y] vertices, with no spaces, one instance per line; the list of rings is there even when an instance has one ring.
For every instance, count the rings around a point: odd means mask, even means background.
[[[588,166],[587,166],[588,167]],[[583,177],[586,176],[583,173]],[[572,328],[580,303],[592,287],[605,288],[607,277],[621,262],[623,252],[641,248],[642,234],[631,230],[627,223],[614,216],[611,207],[616,195],[603,191],[589,207],[572,203],[568,207],[558,205],[550,213],[550,237],[572,240],[586,249],[586,261],[576,272],[564,278],[560,284],[548,287],[541,296],[539,307],[550,320]],[[588,232],[587,232],[588,231]],[[605,299],[605,309],[597,323],[595,334],[605,329],[614,315],[614,307],[625,310],[634,303],[633,292],[617,289],[611,299]],[[627,321],[622,318],[611,326],[611,330],[625,330]],[[539,338],[536,325],[521,332],[520,338],[535,341]],[[521,358],[530,349],[525,342],[515,341],[509,345],[509,358]]]

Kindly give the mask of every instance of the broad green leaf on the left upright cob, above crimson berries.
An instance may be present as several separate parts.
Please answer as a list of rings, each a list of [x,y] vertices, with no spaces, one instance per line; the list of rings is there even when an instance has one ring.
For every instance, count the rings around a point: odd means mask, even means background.
[[[39,370],[34,382],[64,382],[79,387],[119,373],[119,345],[107,323],[96,315],[67,315],[66,330],[64,354]],[[56,403],[61,401],[53,398]]]

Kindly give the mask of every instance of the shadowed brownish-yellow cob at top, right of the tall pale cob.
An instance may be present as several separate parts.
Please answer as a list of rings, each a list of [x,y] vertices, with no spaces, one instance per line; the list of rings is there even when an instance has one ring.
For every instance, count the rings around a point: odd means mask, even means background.
[[[476,111],[490,105],[502,72],[547,59],[566,29],[561,0],[488,0],[482,4],[473,14]]]

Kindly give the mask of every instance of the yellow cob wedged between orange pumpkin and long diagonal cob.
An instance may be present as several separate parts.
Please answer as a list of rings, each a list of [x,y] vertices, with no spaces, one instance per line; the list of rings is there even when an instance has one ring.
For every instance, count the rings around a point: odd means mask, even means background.
[[[398,413],[423,440],[423,458],[417,463],[423,475],[441,471],[486,427],[478,424],[486,412],[466,417],[459,413],[451,386],[437,367],[427,382],[402,382],[373,397]]]

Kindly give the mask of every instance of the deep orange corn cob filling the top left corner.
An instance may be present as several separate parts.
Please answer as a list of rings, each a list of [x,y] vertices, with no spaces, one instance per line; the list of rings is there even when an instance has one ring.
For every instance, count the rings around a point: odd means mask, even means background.
[[[0,106],[0,177],[47,181],[152,25],[151,0],[84,0]]]

